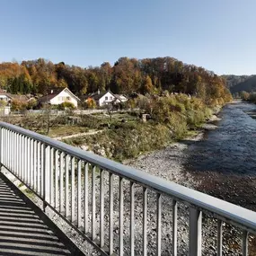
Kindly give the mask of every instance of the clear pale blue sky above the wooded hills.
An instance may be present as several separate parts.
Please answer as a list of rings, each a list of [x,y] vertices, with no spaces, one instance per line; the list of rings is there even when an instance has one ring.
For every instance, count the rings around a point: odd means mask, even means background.
[[[0,62],[176,57],[256,74],[256,0],[0,0]]]

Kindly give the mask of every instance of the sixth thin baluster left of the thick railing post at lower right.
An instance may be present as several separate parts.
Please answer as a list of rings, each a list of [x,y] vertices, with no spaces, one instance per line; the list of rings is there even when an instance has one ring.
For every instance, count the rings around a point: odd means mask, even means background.
[[[109,196],[110,196],[110,226],[109,226],[109,240],[110,240],[110,255],[113,253],[114,251],[114,245],[113,245],[113,208],[114,208],[114,196],[113,196],[113,178],[114,178],[114,174],[110,172],[109,174]]]

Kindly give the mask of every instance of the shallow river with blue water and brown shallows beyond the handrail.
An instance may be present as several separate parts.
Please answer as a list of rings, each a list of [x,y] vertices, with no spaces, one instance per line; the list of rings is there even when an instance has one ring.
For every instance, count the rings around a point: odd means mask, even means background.
[[[219,113],[217,128],[188,146],[184,172],[198,190],[256,210],[256,105],[234,102]]]

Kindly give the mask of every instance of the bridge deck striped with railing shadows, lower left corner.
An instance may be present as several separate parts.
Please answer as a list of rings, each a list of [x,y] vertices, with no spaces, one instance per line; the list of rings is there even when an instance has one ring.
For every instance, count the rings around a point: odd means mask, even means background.
[[[73,255],[31,204],[0,173],[0,255]]]

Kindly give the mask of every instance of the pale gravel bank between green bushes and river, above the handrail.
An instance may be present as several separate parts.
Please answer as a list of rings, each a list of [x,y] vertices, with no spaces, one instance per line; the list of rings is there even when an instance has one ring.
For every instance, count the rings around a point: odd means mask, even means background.
[[[179,142],[172,143],[160,150],[148,154],[142,154],[136,159],[123,161],[124,164],[135,167],[141,171],[149,172],[167,181],[173,181],[189,188],[198,188],[200,180],[193,178],[190,172],[186,172],[184,165],[187,160],[188,147],[204,138],[208,130],[216,129],[216,122],[221,120],[217,115],[221,109],[217,109],[201,128],[194,131],[194,135],[185,137]]]

